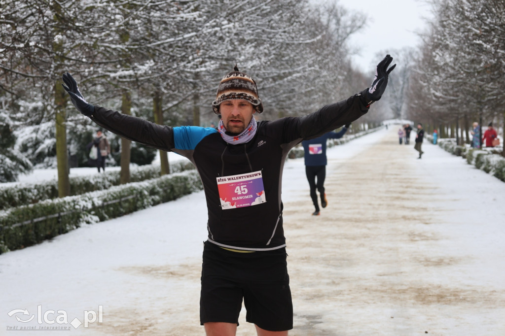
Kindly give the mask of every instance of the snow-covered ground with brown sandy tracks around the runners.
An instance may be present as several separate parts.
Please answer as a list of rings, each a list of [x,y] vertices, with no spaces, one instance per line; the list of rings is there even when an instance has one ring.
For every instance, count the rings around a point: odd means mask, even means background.
[[[317,217],[303,159],[287,161],[290,335],[505,334],[505,183],[438,146],[425,143],[421,160],[413,147],[391,127],[328,149]],[[0,334],[203,335],[206,234],[198,192],[0,255]],[[61,310],[84,322],[100,305],[103,321],[87,328],[43,321]],[[238,335],[256,334],[244,311],[239,322]]]

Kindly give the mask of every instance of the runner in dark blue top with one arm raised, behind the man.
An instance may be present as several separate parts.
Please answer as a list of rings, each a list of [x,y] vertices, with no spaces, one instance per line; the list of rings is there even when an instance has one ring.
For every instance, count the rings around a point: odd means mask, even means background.
[[[328,163],[326,158],[326,141],[328,139],[340,139],[344,136],[349,127],[350,124],[347,124],[342,127],[340,132],[328,132],[318,138],[304,140],[301,142],[301,145],[304,146],[305,174],[307,176],[307,180],[309,181],[312,203],[314,203],[314,207],[316,208],[312,213],[314,216],[319,215],[320,211],[316,189],[319,191],[321,206],[325,208],[326,205],[328,205],[328,200],[326,199],[326,193],[324,190],[326,164]]]

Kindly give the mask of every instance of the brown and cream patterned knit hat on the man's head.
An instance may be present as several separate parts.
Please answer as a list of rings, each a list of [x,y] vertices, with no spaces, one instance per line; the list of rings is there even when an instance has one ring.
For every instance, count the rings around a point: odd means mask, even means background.
[[[214,113],[219,115],[219,105],[225,100],[243,99],[250,102],[258,113],[263,112],[263,103],[258,97],[258,87],[254,79],[243,72],[238,71],[237,66],[234,71],[224,76],[218,86],[216,100],[212,102]]]

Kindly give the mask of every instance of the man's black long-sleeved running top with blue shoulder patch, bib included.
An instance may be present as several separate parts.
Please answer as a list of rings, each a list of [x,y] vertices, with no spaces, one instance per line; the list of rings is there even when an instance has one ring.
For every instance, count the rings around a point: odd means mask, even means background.
[[[262,251],[286,246],[281,182],[289,150],[354,122],[368,107],[359,93],[307,116],[259,121],[254,138],[238,145],[226,143],[214,128],[163,126],[98,105],[91,119],[126,139],[187,157],[204,185],[209,242]]]

